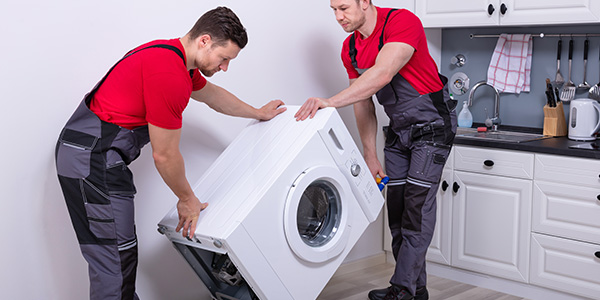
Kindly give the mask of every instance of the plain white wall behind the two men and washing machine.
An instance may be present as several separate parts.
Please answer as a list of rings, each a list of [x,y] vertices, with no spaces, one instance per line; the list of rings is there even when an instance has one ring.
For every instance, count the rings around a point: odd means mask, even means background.
[[[379,1],[391,6],[402,1]],[[411,1],[412,2],[412,1]],[[88,279],[54,169],[60,129],[83,95],[127,50],[179,37],[205,11],[232,8],[250,42],[227,73],[211,78],[254,106],[279,98],[299,105],[347,86],[339,59],[346,34],[328,1],[56,0],[5,1],[0,9],[0,149],[3,191],[1,299],[85,299]],[[339,110],[358,141],[351,108]],[[183,155],[197,180],[247,124],[190,103]],[[142,299],[204,299],[208,294],[156,223],[175,199],[147,147],[132,164]],[[235,174],[232,174],[235,176]],[[375,222],[348,260],[381,252]]]

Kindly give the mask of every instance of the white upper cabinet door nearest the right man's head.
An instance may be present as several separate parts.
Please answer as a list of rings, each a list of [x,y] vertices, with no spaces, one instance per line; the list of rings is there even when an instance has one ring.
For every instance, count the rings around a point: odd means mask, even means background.
[[[499,0],[418,0],[415,13],[426,28],[498,25]],[[488,7],[494,11],[488,14]]]

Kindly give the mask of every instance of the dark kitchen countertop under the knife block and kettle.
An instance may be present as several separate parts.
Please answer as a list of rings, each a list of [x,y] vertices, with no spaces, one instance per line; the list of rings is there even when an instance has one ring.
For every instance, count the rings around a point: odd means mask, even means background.
[[[524,128],[518,128],[518,127],[510,128],[509,126],[504,126],[504,128],[502,128],[502,129],[503,130],[521,131],[521,132],[532,132],[532,129],[524,129]],[[536,130],[540,131],[540,133],[541,133],[541,129],[533,129],[533,131],[534,131],[533,133],[535,133]],[[497,148],[497,149],[507,149],[507,150],[527,151],[527,152],[535,152],[535,153],[564,155],[564,156],[572,156],[572,157],[600,159],[600,149],[591,150],[591,149],[569,148],[569,146],[574,146],[574,145],[579,145],[579,144],[589,144],[589,143],[590,142],[572,141],[572,140],[569,140],[566,136],[551,137],[551,138],[529,141],[529,142],[521,142],[521,143],[471,139],[471,138],[464,138],[464,137],[460,137],[460,136],[456,136],[454,138],[455,145],[468,145],[468,146],[477,146],[477,147],[484,147],[484,148]]]

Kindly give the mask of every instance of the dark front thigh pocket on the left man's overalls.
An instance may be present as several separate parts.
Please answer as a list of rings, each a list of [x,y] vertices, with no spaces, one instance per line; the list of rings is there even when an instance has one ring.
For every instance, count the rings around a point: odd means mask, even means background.
[[[133,173],[127,167],[119,151],[106,151],[106,187],[109,194],[133,195]]]

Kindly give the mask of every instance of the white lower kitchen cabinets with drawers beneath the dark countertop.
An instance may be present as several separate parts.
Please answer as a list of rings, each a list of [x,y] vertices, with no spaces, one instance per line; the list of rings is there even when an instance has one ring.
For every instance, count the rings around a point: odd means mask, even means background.
[[[459,145],[451,166],[430,266],[475,285],[471,272],[489,276],[509,293],[514,284],[531,299],[600,299],[599,159]]]

